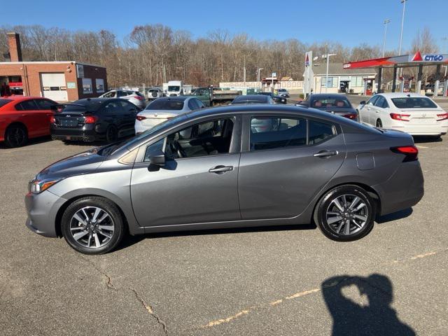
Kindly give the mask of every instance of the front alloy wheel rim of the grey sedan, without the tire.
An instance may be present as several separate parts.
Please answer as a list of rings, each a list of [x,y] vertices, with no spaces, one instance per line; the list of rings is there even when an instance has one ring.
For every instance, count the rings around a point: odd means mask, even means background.
[[[99,248],[113,237],[115,225],[111,215],[99,207],[83,207],[70,221],[71,237],[80,246]]]

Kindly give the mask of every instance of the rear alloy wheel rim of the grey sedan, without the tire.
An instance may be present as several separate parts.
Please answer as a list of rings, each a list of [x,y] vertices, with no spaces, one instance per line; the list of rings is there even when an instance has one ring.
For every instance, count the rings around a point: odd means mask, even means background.
[[[367,223],[369,212],[365,202],[358,196],[344,194],[328,205],[325,214],[330,229],[337,235],[353,235]]]

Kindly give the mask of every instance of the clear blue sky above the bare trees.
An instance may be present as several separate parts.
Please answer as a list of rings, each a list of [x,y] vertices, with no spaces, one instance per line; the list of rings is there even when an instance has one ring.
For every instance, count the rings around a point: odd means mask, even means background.
[[[319,1],[3,1],[0,25],[43,25],[71,30],[109,29],[118,38],[135,25],[161,23],[188,30],[193,37],[225,29],[246,32],[258,40],[297,38],[304,43],[337,41],[353,47],[360,43],[381,45],[388,25],[386,49],[398,50],[402,3],[400,0]],[[6,8],[5,8],[6,7]],[[15,13],[15,15],[12,15]],[[448,0],[408,0],[403,48],[409,48],[416,32],[429,27],[441,52],[448,52]]]

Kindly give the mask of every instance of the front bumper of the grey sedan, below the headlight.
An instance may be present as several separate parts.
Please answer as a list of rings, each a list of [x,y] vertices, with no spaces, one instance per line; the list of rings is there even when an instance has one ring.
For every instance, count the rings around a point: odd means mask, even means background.
[[[25,196],[27,209],[27,228],[45,237],[57,237],[56,216],[66,200],[50,191],[40,194],[28,193]]]

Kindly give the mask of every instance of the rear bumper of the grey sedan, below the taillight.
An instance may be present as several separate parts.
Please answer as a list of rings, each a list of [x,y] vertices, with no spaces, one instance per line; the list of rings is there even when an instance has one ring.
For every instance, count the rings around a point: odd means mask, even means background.
[[[381,197],[381,216],[413,207],[424,195],[420,162],[403,162],[388,181],[372,186]]]

